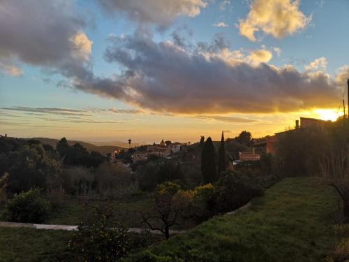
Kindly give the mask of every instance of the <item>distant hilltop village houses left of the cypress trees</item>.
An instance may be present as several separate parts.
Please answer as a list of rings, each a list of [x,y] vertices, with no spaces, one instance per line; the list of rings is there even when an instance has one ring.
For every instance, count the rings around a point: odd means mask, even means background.
[[[146,161],[151,156],[169,157],[170,154],[181,151],[183,145],[184,144],[179,142],[170,143],[170,141],[168,141],[165,143],[161,140],[161,143],[159,144],[154,143],[153,145],[147,145],[145,150],[138,151],[135,149],[136,151],[133,154],[133,162]]]

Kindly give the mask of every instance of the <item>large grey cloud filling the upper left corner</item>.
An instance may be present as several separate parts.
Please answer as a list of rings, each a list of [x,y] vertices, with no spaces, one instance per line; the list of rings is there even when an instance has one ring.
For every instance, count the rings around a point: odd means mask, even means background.
[[[19,75],[22,61],[64,75],[85,75],[91,41],[71,1],[0,1],[0,67]]]

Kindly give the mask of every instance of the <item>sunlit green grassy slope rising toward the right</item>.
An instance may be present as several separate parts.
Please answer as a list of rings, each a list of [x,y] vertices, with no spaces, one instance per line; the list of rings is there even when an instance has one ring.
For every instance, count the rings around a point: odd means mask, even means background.
[[[336,199],[313,178],[288,178],[250,210],[210,219],[127,261],[322,261],[336,242]]]

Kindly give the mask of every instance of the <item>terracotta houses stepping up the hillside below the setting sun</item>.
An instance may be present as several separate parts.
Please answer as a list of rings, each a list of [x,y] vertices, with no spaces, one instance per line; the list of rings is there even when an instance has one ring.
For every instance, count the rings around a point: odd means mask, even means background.
[[[327,124],[331,123],[331,121],[325,121],[321,119],[308,118],[308,117],[300,117],[300,121],[296,120],[295,129],[320,129],[324,130]],[[243,161],[258,161],[260,159],[260,152],[274,154],[276,150],[276,143],[279,137],[283,133],[295,131],[295,129],[291,129],[288,131],[283,131],[279,133],[275,133],[274,136],[267,137],[261,143],[255,143],[252,145],[251,152],[239,152],[239,160],[233,160],[233,166],[241,163]]]

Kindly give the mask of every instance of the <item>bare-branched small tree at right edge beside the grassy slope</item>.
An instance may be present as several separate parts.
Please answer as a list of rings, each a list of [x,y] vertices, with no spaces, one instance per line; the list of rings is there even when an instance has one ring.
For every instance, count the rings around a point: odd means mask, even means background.
[[[339,152],[332,152],[320,165],[325,180],[341,196],[344,221],[349,223],[349,146]]]

